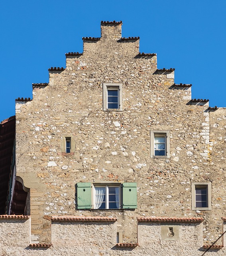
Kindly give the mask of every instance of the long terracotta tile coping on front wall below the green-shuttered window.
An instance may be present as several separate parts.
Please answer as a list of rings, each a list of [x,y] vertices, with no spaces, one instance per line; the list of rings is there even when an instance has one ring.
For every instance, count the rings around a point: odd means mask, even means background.
[[[110,217],[82,217],[82,216],[51,216],[51,220],[58,221],[116,221],[117,218]]]

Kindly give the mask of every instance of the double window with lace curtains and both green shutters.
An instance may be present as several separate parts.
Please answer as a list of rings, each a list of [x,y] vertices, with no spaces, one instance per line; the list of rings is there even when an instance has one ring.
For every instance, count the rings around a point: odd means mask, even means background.
[[[136,183],[77,183],[78,209],[135,209]]]

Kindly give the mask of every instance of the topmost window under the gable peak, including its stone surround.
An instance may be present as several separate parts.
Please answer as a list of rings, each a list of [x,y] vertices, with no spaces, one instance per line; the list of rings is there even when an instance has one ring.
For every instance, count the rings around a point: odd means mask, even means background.
[[[103,110],[122,111],[122,84],[103,84]]]

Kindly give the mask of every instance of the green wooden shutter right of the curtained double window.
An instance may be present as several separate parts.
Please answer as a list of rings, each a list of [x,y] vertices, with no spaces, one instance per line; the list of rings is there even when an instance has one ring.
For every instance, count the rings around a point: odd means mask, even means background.
[[[137,184],[125,182],[122,184],[122,208],[135,209],[137,205]]]

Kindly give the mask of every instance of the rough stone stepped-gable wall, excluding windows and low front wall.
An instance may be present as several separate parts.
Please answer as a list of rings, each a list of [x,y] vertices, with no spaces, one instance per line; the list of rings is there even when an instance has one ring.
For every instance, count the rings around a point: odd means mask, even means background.
[[[65,70],[50,69],[32,101],[16,101],[16,171],[30,188],[31,240],[51,241],[52,215],[116,217],[124,242],[137,240],[137,217],[202,216],[211,244],[225,215],[226,109],[192,101],[174,70],[139,54],[139,38],[121,38],[121,24],[102,23],[101,35],[83,39],[83,54],[67,54]],[[103,111],[103,83],[122,83],[122,112]],[[151,130],[169,131],[169,158],[150,157]],[[62,154],[67,136],[74,154]],[[77,210],[76,184],[104,181],[136,182],[138,208]],[[212,210],[192,210],[191,182],[211,182]]]

